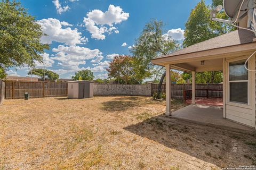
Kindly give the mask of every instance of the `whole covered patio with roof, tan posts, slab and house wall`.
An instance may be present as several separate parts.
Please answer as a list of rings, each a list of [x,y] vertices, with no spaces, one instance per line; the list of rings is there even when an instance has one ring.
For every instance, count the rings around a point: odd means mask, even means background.
[[[172,54],[153,59],[156,65],[166,69],[166,115],[192,121],[200,121],[230,128],[255,128],[255,73],[248,73],[248,103],[239,104],[230,100],[229,63],[246,60],[255,50],[255,35],[248,30],[236,30],[202,43],[183,48]],[[255,69],[255,57],[249,60],[249,68]],[[192,97],[187,102],[192,104],[179,111],[171,111],[171,69],[191,72]],[[196,100],[196,72],[222,71],[223,98]],[[235,92],[235,91],[234,91]],[[232,96],[233,97],[233,96]],[[236,96],[236,99],[239,100]],[[213,101],[213,102],[212,102]],[[199,105],[196,105],[196,104]],[[209,106],[212,105],[212,106]],[[207,106],[206,106],[207,105]],[[222,107],[221,107],[222,105]],[[215,106],[215,107],[213,107]],[[221,108],[220,108],[221,107]],[[229,119],[229,120],[226,120]],[[232,120],[232,121],[230,121]],[[238,123],[235,123],[238,122]],[[243,125],[242,125],[243,124]]]

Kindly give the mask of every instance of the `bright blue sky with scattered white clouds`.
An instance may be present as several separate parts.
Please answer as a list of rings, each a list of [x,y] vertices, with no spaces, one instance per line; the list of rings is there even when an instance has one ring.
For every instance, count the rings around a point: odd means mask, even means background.
[[[42,42],[51,46],[42,54],[44,63],[36,62],[36,67],[55,71],[60,78],[81,69],[103,78],[111,58],[130,54],[129,47],[150,19],[162,20],[167,35],[182,41],[185,22],[199,1],[20,0],[48,35]],[[27,76],[28,67],[17,69],[7,73]]]

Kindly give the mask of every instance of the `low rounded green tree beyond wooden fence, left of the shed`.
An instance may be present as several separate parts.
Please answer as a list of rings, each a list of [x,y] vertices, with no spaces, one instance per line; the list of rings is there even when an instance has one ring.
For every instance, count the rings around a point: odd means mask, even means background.
[[[59,74],[54,73],[51,70],[46,70],[46,69],[32,69],[28,72],[28,75],[38,75],[42,79],[50,79],[50,80],[58,80],[59,79]]]

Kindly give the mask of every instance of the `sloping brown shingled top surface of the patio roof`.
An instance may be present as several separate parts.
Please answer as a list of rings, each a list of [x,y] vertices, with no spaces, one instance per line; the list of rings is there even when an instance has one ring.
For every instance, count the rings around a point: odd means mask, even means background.
[[[177,52],[159,56],[157,58],[154,58],[153,60],[157,60],[159,58],[195,53],[195,52],[202,52],[205,50],[253,43],[254,38],[256,38],[256,37],[252,31],[245,30],[245,29],[239,29],[239,30],[231,31],[224,35],[215,37],[215,38],[211,38],[211,39],[203,41],[201,43],[197,43],[195,45],[183,48],[181,50],[178,50]]]

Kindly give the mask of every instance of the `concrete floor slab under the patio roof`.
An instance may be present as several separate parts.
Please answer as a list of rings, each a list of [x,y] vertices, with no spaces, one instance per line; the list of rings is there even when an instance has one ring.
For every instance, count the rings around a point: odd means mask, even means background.
[[[223,118],[222,111],[222,107],[196,104],[172,112],[172,117],[236,132],[255,132],[254,128]]]

